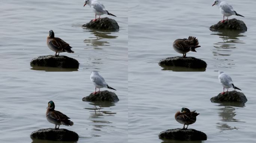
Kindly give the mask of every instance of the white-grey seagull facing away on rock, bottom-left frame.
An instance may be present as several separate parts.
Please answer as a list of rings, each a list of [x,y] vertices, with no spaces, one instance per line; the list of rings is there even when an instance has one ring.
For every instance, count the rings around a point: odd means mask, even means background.
[[[113,89],[112,87],[107,85],[107,83],[105,82],[104,78],[98,73],[98,71],[92,71],[90,79],[91,79],[92,83],[95,85],[95,92],[94,92],[94,94],[96,94],[97,92],[100,92],[100,88]],[[99,91],[96,92],[96,88],[98,88]],[[116,89],[113,89],[113,90],[116,90]]]

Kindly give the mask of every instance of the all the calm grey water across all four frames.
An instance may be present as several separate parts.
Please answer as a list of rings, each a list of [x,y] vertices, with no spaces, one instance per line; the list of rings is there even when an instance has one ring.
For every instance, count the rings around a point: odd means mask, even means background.
[[[50,100],[74,122],[60,127],[76,131],[79,143],[180,143],[161,140],[158,134],[182,127],[174,120],[182,107],[200,113],[189,128],[206,133],[204,143],[255,142],[256,1],[228,1],[245,16],[231,18],[243,20],[246,32],[210,31],[222,19],[212,0],[101,2],[118,16],[114,18],[118,32],[82,29],[94,18],[83,0],[0,1],[0,142],[51,143],[30,138],[34,130],[54,127],[45,118]],[[30,66],[32,58],[54,54],[46,46],[51,29],[73,47],[74,54],[60,54],[76,58],[79,69]],[[199,39],[201,47],[187,56],[206,61],[206,69],[158,65],[163,58],[181,55],[172,43],[190,35]],[[82,101],[94,91],[89,81],[92,70],[100,71],[117,89],[119,102]],[[246,104],[210,101],[222,92],[219,70],[242,89]]]

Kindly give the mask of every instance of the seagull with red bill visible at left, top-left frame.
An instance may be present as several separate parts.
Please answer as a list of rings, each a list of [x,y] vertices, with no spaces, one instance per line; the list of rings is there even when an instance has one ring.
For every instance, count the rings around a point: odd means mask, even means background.
[[[115,16],[115,15],[109,13],[105,9],[105,6],[102,3],[100,3],[98,0],[85,0],[85,4],[83,6],[85,6],[86,4],[89,4],[89,6],[95,12],[95,19],[93,21],[97,20],[96,15],[99,15],[98,19],[100,19],[100,16],[103,15],[103,14]]]

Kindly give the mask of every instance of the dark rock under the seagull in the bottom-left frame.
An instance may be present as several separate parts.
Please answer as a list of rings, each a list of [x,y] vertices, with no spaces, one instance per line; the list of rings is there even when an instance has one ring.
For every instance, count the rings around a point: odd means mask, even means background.
[[[96,94],[91,93],[89,96],[83,98],[83,101],[119,101],[118,96],[114,92],[108,90],[97,92]]]

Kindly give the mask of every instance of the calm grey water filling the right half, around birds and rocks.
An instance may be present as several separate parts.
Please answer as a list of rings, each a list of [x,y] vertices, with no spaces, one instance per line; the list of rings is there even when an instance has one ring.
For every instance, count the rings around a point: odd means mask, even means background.
[[[158,134],[183,127],[174,119],[182,107],[200,113],[189,128],[206,133],[204,143],[255,142],[256,2],[227,1],[245,16],[231,18],[243,20],[247,32],[210,31],[223,18],[211,6],[213,0],[129,1],[129,142],[180,143],[158,139]],[[187,56],[206,61],[204,72],[174,72],[188,69],[158,65],[166,57],[181,56],[172,43],[190,35],[199,39],[201,47]],[[211,103],[210,98],[222,92],[219,70],[243,90],[248,99],[245,105]]]

